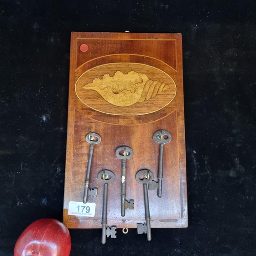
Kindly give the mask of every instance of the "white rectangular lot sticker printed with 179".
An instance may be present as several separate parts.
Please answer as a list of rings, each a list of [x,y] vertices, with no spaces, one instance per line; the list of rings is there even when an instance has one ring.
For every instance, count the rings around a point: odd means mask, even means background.
[[[95,203],[82,203],[82,202],[69,202],[68,215],[94,217],[95,215]]]

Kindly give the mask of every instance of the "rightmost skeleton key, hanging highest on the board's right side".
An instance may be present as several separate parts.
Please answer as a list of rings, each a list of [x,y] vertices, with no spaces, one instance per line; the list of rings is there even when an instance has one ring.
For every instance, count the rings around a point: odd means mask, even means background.
[[[162,197],[162,180],[163,180],[163,146],[172,140],[172,136],[165,130],[159,130],[153,135],[154,141],[160,143],[159,149],[159,163],[158,163],[158,183],[155,181],[149,184],[149,189],[153,190],[158,187],[158,197]]]

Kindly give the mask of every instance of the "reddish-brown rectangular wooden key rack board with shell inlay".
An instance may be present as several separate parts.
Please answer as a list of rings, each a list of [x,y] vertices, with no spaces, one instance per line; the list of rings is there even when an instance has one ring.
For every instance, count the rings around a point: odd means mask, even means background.
[[[150,189],[161,179],[160,144],[153,139],[161,130],[170,133],[171,140],[163,146],[162,195],[158,197],[158,189]],[[89,196],[83,204],[89,142],[98,140],[94,133],[101,141],[94,144]],[[157,136],[166,139],[162,132]],[[130,154],[127,148],[133,151],[126,159],[125,176],[123,161],[116,155],[121,146],[126,147],[121,156]],[[63,207],[68,228],[102,227],[103,184],[98,174],[104,169],[115,175],[108,184],[107,226],[137,228],[145,223],[143,185],[135,176],[147,169],[155,181],[147,184],[151,227],[187,227],[180,34],[72,33]],[[134,200],[134,209],[127,208],[122,217],[124,181],[125,199]]]

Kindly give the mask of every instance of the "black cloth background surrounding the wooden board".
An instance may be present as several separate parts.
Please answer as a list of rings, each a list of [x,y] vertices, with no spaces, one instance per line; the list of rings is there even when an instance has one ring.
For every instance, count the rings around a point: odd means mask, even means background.
[[[256,255],[253,1],[0,0],[0,255],[62,220],[71,31],[182,33],[189,226],[70,230],[72,255]]]

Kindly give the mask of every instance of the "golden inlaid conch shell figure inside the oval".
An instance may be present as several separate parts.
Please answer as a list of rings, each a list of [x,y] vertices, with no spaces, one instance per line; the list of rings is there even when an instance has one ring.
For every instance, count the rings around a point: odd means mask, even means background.
[[[95,90],[113,105],[130,106],[154,98],[169,86],[132,70],[127,74],[117,71],[114,76],[104,74],[101,79],[95,78],[92,83],[87,83],[82,88]]]

